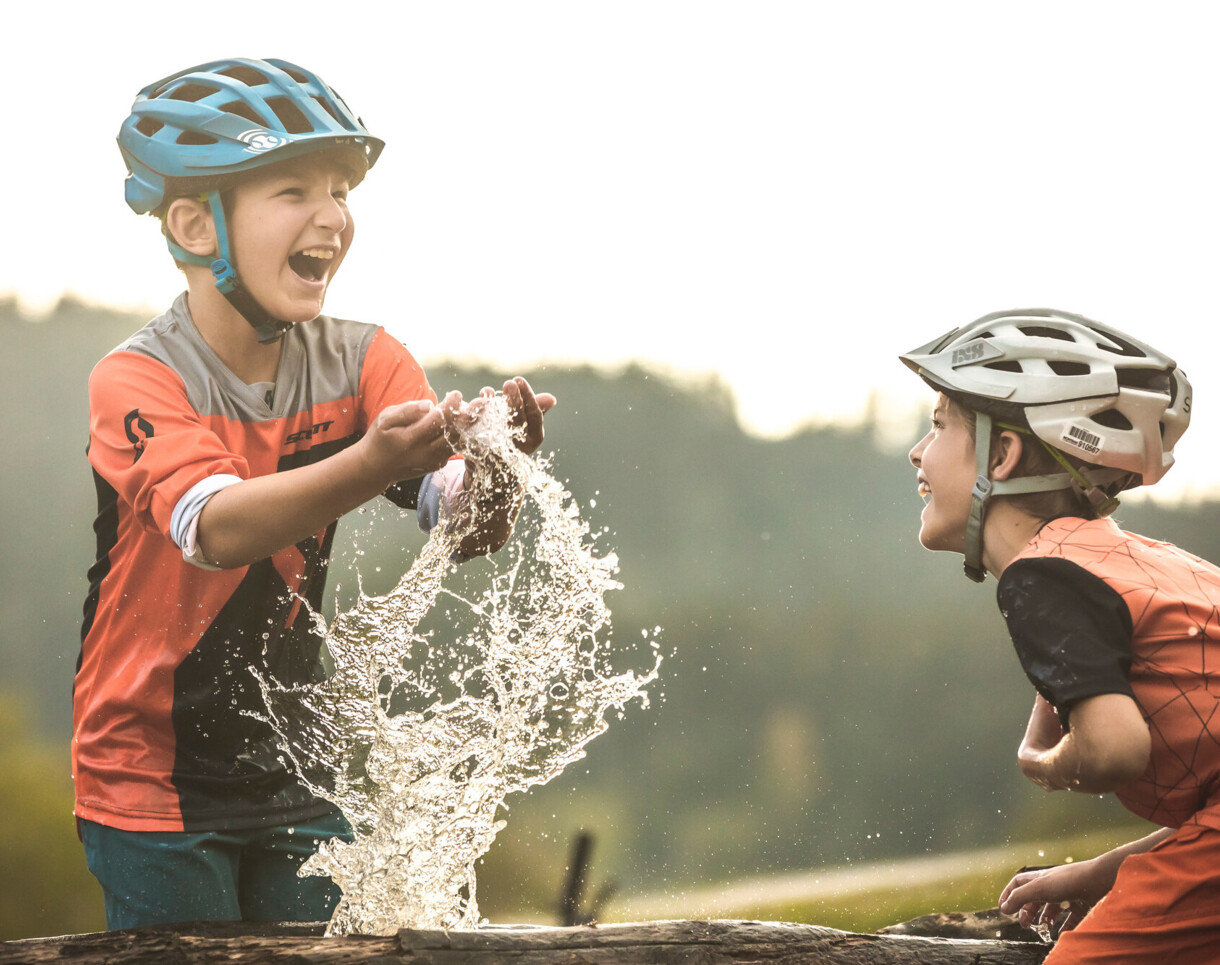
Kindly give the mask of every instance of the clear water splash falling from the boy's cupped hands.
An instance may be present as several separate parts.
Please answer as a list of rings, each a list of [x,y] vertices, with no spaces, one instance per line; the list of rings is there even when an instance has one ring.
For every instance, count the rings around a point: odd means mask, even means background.
[[[327,680],[260,681],[303,780],[355,830],[301,869],[343,891],[328,935],[483,924],[475,863],[505,826],[505,798],[583,758],[611,709],[647,706],[660,666],[654,631],[644,633],[651,670],[614,672],[604,595],[621,586],[617,559],[594,554],[571,495],[512,445],[505,399],[461,434],[468,460],[498,460],[522,492],[489,584],[466,595],[444,586],[468,531],[459,514],[392,592],[361,593],[329,626],[315,616],[333,660]],[[471,493],[487,495],[478,484]],[[438,627],[425,627],[429,616]]]

